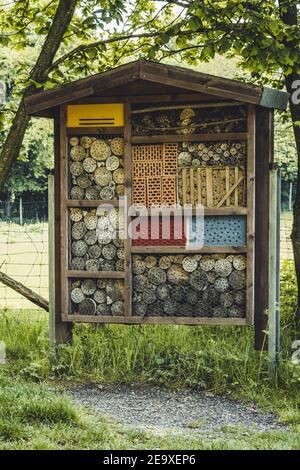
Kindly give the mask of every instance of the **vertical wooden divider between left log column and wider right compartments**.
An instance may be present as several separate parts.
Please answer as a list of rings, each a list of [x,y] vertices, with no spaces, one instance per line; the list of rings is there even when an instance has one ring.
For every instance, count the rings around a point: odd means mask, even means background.
[[[124,228],[126,238],[124,240],[124,305],[125,316],[132,314],[132,269],[131,269],[131,236],[128,233],[128,227],[131,222],[129,217],[129,207],[131,205],[131,105],[124,105],[124,173],[125,173],[125,209]]]

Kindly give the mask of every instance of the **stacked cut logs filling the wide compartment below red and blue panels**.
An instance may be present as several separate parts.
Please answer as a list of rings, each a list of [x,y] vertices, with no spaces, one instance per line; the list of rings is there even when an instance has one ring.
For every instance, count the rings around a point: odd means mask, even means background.
[[[245,317],[244,255],[133,256],[133,314]]]

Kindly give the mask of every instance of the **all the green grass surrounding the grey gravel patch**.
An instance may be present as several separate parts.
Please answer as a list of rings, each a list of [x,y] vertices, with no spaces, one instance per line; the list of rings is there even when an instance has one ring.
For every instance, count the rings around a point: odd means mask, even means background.
[[[77,325],[72,345],[49,359],[47,316],[2,311],[0,335],[8,363],[0,366],[0,448],[92,449],[300,449],[300,366],[291,363],[299,339],[293,312],[295,277],[282,270],[282,354],[276,383],[265,353],[253,348],[253,329],[243,327]],[[247,435],[238,427],[221,437],[153,436],[118,427],[75,409],[47,384],[66,380],[191,387],[254,401],[277,413],[289,431]],[[198,429],[199,427],[199,429]]]

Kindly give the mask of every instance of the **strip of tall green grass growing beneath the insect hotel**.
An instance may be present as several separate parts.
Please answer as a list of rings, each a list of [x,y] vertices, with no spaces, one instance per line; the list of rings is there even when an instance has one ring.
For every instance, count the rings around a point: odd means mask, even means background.
[[[277,382],[268,375],[267,356],[254,351],[251,327],[176,325],[76,325],[72,345],[48,359],[47,319],[38,313],[0,314],[9,367],[35,380],[74,377],[97,382],[140,382],[234,393],[266,404],[289,397],[300,404],[299,368],[291,364],[297,338],[293,312],[295,275],[282,269],[282,353]],[[41,315],[38,317],[37,315]],[[28,413],[34,416],[34,412]]]

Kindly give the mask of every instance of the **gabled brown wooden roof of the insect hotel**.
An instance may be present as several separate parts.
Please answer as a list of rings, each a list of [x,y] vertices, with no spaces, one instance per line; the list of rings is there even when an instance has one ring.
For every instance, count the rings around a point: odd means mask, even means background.
[[[200,93],[212,98],[222,100],[230,99],[260,105],[267,108],[285,110],[288,104],[288,94],[270,88],[261,88],[255,85],[216,77],[202,72],[173,65],[158,64],[144,60],[137,60],[126,65],[107,70],[88,78],[61,85],[52,90],[37,92],[25,99],[25,109],[31,116],[51,117],[57,106],[71,103],[82,98],[113,96],[113,90],[127,87],[134,82],[142,83],[145,95],[149,94],[151,86],[161,85],[164,90],[184,90],[185,93]],[[144,87],[143,87],[144,82]],[[139,87],[141,88],[141,86]]]

